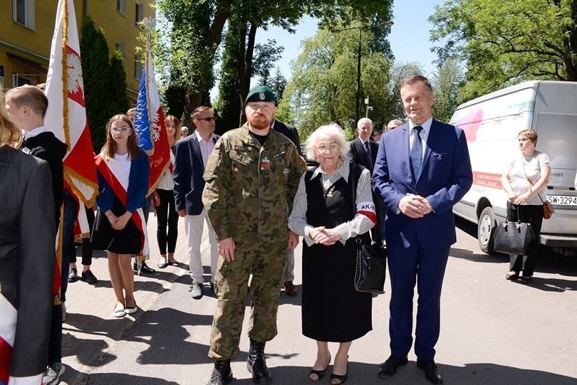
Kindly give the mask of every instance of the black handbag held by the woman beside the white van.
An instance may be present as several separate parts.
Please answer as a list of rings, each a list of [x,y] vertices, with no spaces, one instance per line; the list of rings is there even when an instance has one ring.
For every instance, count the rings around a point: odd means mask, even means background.
[[[494,249],[500,253],[526,255],[535,240],[531,224],[524,223],[521,216],[518,216],[518,221],[509,221],[509,218],[510,210],[506,221],[495,228]]]

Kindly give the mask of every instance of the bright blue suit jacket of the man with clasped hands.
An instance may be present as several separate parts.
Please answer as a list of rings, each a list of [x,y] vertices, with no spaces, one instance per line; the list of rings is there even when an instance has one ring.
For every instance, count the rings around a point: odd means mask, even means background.
[[[472,181],[467,139],[460,128],[432,121],[416,180],[410,167],[408,124],[386,132],[380,139],[373,189],[388,207],[387,244],[440,248],[455,243],[452,207],[469,191]],[[407,194],[423,196],[433,211],[422,218],[405,216],[398,207]]]

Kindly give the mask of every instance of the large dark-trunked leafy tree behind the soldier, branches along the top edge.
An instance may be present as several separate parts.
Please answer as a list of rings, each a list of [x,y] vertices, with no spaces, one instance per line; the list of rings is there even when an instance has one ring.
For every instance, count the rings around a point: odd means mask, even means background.
[[[184,114],[199,105],[204,93],[214,82],[213,65],[217,62],[218,47],[225,23],[234,16],[233,28],[240,33],[239,94],[246,95],[252,75],[258,75],[253,59],[259,51],[254,45],[258,28],[281,26],[292,31],[292,26],[308,14],[321,23],[345,23],[362,19],[367,24],[375,20],[390,20],[391,0],[159,0],[158,6],[167,21],[172,23],[168,32],[170,44],[158,46],[159,63],[170,63],[171,87],[186,90]],[[388,33],[385,28],[383,34]],[[242,38],[244,36],[244,38]],[[268,49],[262,48],[263,52]],[[173,84],[174,83],[174,84]],[[239,96],[240,97],[240,96]],[[240,97],[241,98],[241,97]]]

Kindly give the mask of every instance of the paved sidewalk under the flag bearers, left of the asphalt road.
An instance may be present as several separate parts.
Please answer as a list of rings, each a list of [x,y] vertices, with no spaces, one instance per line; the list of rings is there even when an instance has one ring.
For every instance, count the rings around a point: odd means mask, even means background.
[[[66,291],[67,317],[63,324],[62,357],[66,365],[61,384],[85,384],[89,369],[105,364],[108,354],[105,353],[119,341],[126,329],[141,317],[162,293],[170,290],[172,283],[182,275],[188,274],[186,239],[184,220],[179,218],[178,240],[175,258],[180,266],[157,268],[160,258],[156,240],[157,218],[150,213],[148,218],[148,235],[150,245],[150,260],[147,265],[156,270],[154,274],[135,275],[135,299],[138,311],[123,318],[113,316],[116,304],[110,276],[108,275],[108,260],[103,251],[94,251],[91,269],[98,278],[98,283],[88,285],[81,280],[69,283]],[[206,232],[205,232],[206,233]],[[207,247],[203,240],[203,249]],[[80,249],[77,249],[80,253]],[[78,275],[82,270],[80,258],[77,260]],[[98,362],[95,359],[98,358]]]

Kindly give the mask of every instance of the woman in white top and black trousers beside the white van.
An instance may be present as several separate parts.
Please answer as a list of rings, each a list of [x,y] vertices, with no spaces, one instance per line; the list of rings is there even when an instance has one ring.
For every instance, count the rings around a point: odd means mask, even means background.
[[[520,153],[513,157],[501,176],[501,184],[508,197],[507,219],[531,223],[535,236],[526,255],[510,255],[509,273],[505,278],[517,280],[522,272],[520,278],[523,283],[529,283],[534,273],[543,223],[543,202],[547,199],[544,190],[551,174],[549,157],[535,149],[537,138],[535,130],[519,132]]]

